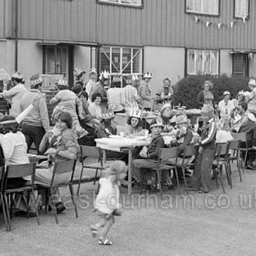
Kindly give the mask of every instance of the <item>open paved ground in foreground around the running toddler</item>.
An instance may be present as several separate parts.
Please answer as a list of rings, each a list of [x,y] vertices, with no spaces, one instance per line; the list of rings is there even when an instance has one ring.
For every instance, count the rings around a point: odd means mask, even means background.
[[[69,208],[55,224],[52,213],[37,219],[14,218],[13,230],[5,232],[0,219],[0,255],[256,255],[256,173],[246,170],[243,182],[232,173],[233,189],[225,180],[221,188],[207,195],[191,192],[177,197],[177,190],[165,191],[164,200],[155,194],[132,199],[122,189],[123,216],[110,232],[112,247],[103,247],[91,238],[88,225],[98,217],[91,211],[94,187],[83,184],[79,219]],[[215,184],[213,183],[213,186]],[[61,195],[68,195],[62,189]],[[183,194],[185,195],[184,191]],[[69,207],[69,197],[64,197]]]

